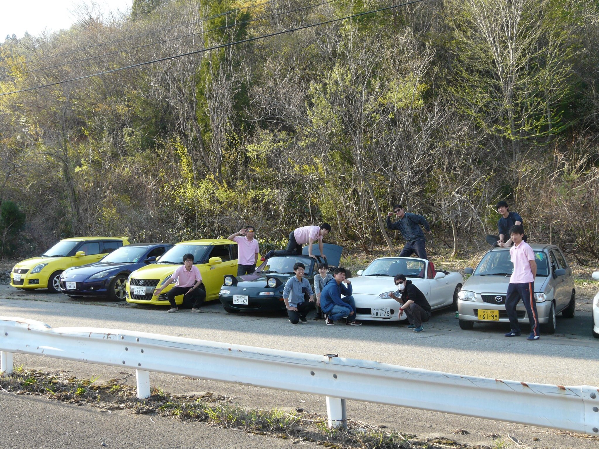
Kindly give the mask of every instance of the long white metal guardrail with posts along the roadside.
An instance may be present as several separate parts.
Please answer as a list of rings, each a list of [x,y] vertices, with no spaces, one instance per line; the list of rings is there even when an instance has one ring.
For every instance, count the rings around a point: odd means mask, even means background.
[[[0,317],[1,371],[13,353],[132,368],[138,398],[150,396],[149,372],[326,396],[329,426],[347,425],[346,399],[599,435],[599,389],[447,374],[129,330],[53,329]]]

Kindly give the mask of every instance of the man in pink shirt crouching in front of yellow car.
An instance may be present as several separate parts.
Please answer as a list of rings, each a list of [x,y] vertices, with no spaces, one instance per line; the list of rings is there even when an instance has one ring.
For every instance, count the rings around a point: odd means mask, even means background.
[[[184,295],[183,303],[186,302],[186,299],[193,300],[191,311],[199,313],[199,306],[206,299],[206,292],[199,287],[199,284],[202,283],[202,275],[199,274],[198,267],[193,265],[193,254],[187,253],[183,255],[183,265],[175,270],[173,275],[168,278],[168,281],[164,283],[164,286],[154,290],[154,295],[159,296],[168,284],[175,281],[175,286],[167,293],[168,302],[171,304],[168,313],[179,311],[175,302],[175,296],[179,295]]]

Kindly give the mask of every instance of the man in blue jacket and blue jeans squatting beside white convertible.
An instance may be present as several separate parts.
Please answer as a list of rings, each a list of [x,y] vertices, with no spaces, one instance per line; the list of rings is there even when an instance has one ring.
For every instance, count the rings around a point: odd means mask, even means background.
[[[345,276],[345,268],[335,268],[333,278],[320,292],[320,308],[325,314],[327,326],[332,326],[335,324],[335,320],[340,320],[343,317],[347,317],[345,321],[347,326],[362,325],[356,321],[356,303],[353,301],[352,283]],[[346,296],[341,298],[341,295]]]

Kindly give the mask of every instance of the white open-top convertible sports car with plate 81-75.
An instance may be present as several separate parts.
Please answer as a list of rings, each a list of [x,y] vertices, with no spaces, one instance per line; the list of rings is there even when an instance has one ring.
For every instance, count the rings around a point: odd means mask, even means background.
[[[353,299],[356,301],[358,320],[400,321],[400,303],[391,298],[397,292],[393,278],[403,274],[426,296],[432,310],[457,304],[458,292],[462,288],[462,275],[456,272],[435,271],[426,259],[416,257],[379,257],[368,267],[350,278]]]

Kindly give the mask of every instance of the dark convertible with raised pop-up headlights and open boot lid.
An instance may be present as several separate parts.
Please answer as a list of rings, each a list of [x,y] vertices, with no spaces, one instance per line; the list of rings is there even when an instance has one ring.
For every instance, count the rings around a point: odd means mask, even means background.
[[[325,243],[323,252],[329,269],[339,265],[342,247]],[[283,287],[294,275],[294,265],[301,262],[305,265],[304,277],[314,285],[314,275],[318,274],[318,264],[323,261],[318,245],[314,245],[312,253],[318,257],[308,256],[308,247],[304,254],[291,256],[274,256],[262,262],[253,274],[244,276],[225,276],[225,284],[220,287],[219,299],[229,313],[239,311],[277,311],[285,310]]]

